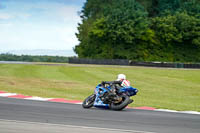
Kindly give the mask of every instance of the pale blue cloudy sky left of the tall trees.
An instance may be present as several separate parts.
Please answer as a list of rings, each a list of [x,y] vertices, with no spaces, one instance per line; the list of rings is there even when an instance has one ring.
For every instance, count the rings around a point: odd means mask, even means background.
[[[72,50],[85,0],[0,0],[0,50]]]

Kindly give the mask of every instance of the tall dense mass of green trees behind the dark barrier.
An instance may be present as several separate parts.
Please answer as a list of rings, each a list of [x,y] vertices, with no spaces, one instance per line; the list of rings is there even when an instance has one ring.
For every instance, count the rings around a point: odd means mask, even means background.
[[[200,62],[200,0],[86,0],[80,58]]]

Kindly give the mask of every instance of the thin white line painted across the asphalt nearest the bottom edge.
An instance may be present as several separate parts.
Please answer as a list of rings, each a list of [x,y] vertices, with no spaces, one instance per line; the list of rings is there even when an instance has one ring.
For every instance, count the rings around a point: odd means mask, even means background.
[[[52,124],[52,123],[29,122],[29,121],[6,120],[6,119],[0,119],[0,121],[16,122],[16,123],[28,123],[28,124],[40,124],[40,125],[43,124],[43,125],[49,125],[49,126],[61,126],[61,127],[82,128],[82,129],[97,129],[97,130],[128,132],[128,133],[155,133],[155,132],[148,132],[148,131],[124,130],[124,129],[112,129],[112,128],[100,128],[100,127],[87,127],[87,126]]]

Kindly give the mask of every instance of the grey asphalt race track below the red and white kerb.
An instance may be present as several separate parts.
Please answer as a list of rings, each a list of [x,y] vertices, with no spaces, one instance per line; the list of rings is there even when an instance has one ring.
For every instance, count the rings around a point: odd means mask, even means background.
[[[0,97],[0,133],[200,133],[200,115]]]

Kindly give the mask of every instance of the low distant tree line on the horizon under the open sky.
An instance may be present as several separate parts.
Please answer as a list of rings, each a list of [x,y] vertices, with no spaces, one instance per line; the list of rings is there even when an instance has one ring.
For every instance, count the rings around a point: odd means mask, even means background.
[[[31,56],[31,55],[14,55],[0,54],[0,61],[25,61],[25,62],[57,62],[67,63],[68,57],[63,56]]]

